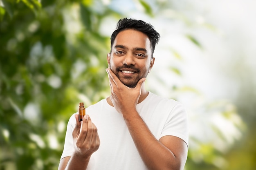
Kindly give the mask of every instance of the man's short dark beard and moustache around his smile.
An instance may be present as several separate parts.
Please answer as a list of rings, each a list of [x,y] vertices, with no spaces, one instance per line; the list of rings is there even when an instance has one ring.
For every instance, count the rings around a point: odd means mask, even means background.
[[[120,76],[119,72],[121,71],[121,69],[125,69],[125,68],[129,68],[135,71],[135,73],[137,76]],[[142,79],[143,77],[147,77],[148,73],[149,73],[149,69],[150,66],[148,68],[144,68],[144,69],[139,69],[136,68],[133,65],[123,65],[123,66],[119,66],[116,68],[112,68],[111,63],[110,63],[110,69],[112,70],[112,72],[117,76],[117,78],[127,87],[129,88],[135,88],[139,82],[140,79]]]

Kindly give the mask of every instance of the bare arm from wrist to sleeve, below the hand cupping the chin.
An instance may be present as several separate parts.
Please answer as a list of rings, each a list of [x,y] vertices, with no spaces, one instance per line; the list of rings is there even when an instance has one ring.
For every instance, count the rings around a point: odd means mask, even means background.
[[[125,116],[126,124],[141,158],[150,170],[182,170],[187,158],[186,143],[174,136],[159,141],[136,112]]]

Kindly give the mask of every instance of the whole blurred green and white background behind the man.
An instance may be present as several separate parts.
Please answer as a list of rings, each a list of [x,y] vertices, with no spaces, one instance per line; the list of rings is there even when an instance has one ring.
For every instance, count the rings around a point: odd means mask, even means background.
[[[186,170],[256,170],[253,0],[0,0],[0,170],[56,170],[78,103],[109,95],[120,18],[161,40],[148,90],[187,108]]]

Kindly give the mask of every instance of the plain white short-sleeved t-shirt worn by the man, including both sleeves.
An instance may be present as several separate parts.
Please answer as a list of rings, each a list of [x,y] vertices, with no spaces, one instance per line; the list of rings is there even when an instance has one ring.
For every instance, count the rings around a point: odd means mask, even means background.
[[[188,144],[186,111],[179,102],[149,93],[137,104],[137,111],[157,140],[166,135],[183,139]],[[106,99],[86,108],[98,129],[101,144],[90,158],[87,170],[147,170],[133,143],[123,116]],[[67,124],[63,157],[74,151],[72,132],[74,115]],[[154,146],[152,146],[154,147]]]

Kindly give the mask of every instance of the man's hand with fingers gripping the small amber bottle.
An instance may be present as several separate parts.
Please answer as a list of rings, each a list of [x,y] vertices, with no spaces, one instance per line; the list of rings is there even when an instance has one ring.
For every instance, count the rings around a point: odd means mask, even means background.
[[[96,126],[92,123],[89,115],[83,117],[83,121],[78,121],[76,117],[76,127],[72,133],[74,139],[74,154],[89,159],[93,152],[98,150],[100,145],[99,135]]]

